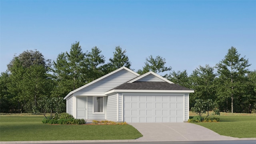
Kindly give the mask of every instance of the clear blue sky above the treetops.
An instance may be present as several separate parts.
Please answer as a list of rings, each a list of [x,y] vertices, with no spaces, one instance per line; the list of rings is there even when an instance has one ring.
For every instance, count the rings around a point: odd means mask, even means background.
[[[14,54],[37,49],[56,60],[76,41],[83,52],[100,48],[106,62],[120,46],[136,71],[159,55],[189,75],[234,46],[256,70],[254,0],[0,0],[0,16],[1,72]]]

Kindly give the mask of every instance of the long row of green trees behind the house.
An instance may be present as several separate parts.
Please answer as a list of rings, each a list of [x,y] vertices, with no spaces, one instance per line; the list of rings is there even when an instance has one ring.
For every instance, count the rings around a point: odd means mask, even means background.
[[[54,61],[46,60],[38,50],[14,56],[0,76],[0,112],[40,111],[42,100],[64,98],[70,91],[122,66],[131,69],[126,50],[120,46],[108,63],[101,52],[96,46],[83,52],[75,42],[69,52],[61,52]],[[256,108],[256,70],[248,70],[249,66],[248,59],[231,47],[216,66],[199,66],[190,75],[186,70],[175,72],[166,66],[165,58],[152,55],[136,72],[164,72],[164,78],[195,90],[190,94],[190,108],[198,99],[210,99],[222,112],[252,113]]]

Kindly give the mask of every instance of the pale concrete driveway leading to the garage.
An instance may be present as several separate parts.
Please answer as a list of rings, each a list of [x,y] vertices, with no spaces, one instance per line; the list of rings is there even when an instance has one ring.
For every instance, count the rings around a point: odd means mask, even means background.
[[[143,137],[138,141],[201,141],[201,140],[239,140],[229,136],[221,136],[216,132],[188,122],[180,123],[129,123]]]

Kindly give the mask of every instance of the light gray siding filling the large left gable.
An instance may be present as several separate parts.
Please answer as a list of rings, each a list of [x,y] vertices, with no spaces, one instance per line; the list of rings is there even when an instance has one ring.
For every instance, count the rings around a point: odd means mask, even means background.
[[[83,94],[92,94],[92,93],[104,93],[107,92],[116,86],[119,86],[120,84],[123,84],[124,82],[127,82],[128,80],[131,80],[135,78],[136,75],[126,71],[126,70],[120,70],[119,72],[116,72],[115,74],[112,74],[99,82],[96,82],[78,92],[75,92],[74,95],[76,96],[82,96]]]

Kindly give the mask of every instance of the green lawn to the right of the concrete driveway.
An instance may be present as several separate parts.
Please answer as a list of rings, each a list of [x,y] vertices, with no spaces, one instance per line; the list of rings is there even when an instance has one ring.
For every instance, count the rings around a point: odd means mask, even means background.
[[[194,115],[194,114],[192,114]],[[256,114],[224,113],[220,116],[220,122],[196,122],[223,136],[236,138],[256,138]]]

